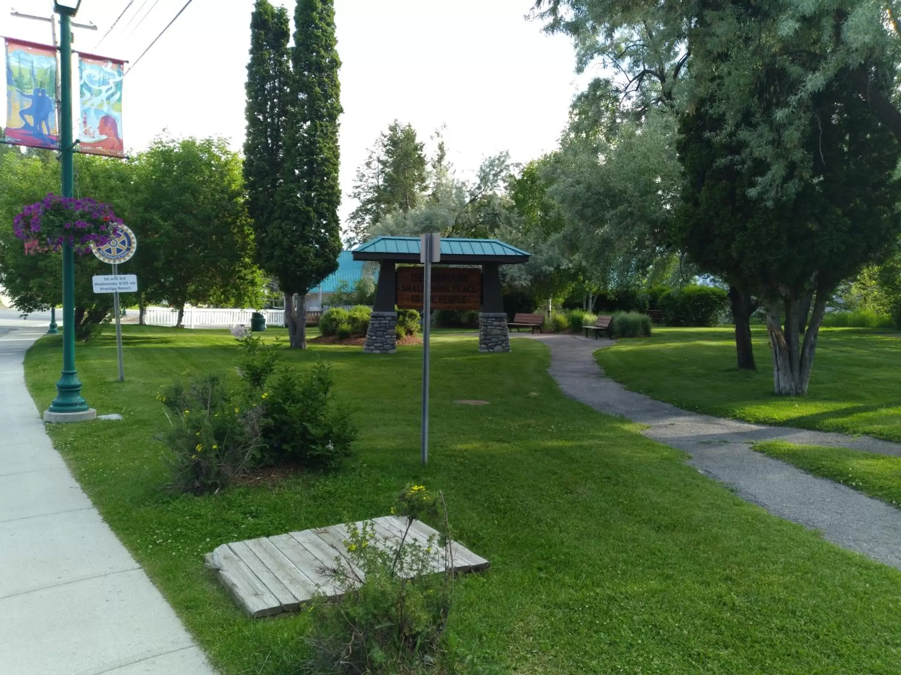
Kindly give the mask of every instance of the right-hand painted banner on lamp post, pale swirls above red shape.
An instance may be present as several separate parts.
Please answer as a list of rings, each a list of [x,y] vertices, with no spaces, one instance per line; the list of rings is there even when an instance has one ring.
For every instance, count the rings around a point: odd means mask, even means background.
[[[81,125],[78,147],[92,155],[125,157],[122,141],[123,62],[78,54]]]

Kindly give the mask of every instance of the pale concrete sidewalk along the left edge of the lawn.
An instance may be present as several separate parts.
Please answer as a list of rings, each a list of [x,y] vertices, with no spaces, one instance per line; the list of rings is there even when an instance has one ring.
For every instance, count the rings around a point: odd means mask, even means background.
[[[23,375],[43,331],[0,326],[0,673],[212,674],[50,444]]]

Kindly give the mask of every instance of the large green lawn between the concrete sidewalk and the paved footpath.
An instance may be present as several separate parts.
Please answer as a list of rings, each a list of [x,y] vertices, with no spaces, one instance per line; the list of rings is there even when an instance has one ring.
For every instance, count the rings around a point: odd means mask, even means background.
[[[59,347],[43,338],[26,359],[41,410]],[[345,471],[199,498],[161,490],[159,386],[232,371],[237,349],[225,331],[127,326],[120,384],[105,335],[79,347],[79,375],[88,401],[124,421],[50,427],[107,522],[226,675],[295,672],[309,619],[244,617],[203,554],[384,515],[408,482],[444,491],[457,538],[492,562],[460,581],[451,618],[474,672],[901,671],[901,572],[769,516],[622,419],[565,398],[546,372],[547,348],[530,340],[507,355],[479,355],[471,337],[434,340],[427,468],[421,347],[396,356],[316,347],[285,358],[333,365],[361,430]]]

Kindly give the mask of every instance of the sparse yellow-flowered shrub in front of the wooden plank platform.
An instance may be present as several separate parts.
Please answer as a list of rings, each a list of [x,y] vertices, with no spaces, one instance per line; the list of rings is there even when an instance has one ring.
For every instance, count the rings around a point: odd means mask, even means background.
[[[347,549],[351,565],[335,561],[327,571],[342,591],[314,600],[308,638],[314,653],[308,672],[434,673],[454,672],[447,653],[448,617],[453,605],[452,563],[433,573],[435,563],[452,560],[451,532],[443,497],[422,485],[408,487],[392,513],[405,518],[399,542],[376,536],[371,521],[351,523]],[[420,542],[409,535],[416,518],[431,515],[440,536]],[[441,568],[439,568],[441,569]]]

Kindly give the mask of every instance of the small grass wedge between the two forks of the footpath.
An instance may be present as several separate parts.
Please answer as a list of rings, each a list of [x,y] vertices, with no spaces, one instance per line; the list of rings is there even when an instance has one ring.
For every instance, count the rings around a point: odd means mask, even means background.
[[[754,449],[807,473],[844,483],[901,507],[901,457],[861,453],[844,447],[799,446],[784,441],[758,443]]]

